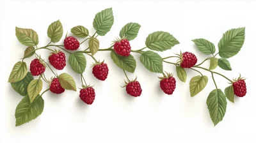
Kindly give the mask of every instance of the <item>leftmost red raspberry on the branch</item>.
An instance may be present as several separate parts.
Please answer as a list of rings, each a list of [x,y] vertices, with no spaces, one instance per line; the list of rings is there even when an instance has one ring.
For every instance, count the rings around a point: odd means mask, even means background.
[[[40,63],[39,59],[33,59],[30,63],[30,72],[33,76],[41,75],[45,72],[45,66]]]

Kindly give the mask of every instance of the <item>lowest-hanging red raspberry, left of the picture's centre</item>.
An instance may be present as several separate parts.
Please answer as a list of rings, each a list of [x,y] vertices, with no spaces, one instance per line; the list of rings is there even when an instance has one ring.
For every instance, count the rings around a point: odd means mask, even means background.
[[[79,96],[84,103],[91,105],[95,100],[95,91],[93,87],[86,87],[80,90]]]

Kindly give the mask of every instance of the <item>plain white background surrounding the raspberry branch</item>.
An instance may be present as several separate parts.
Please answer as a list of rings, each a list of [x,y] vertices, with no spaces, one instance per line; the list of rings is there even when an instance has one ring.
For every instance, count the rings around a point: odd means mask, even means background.
[[[0,142],[256,142],[256,96],[255,91],[255,6],[250,1],[95,1],[90,2],[32,2],[1,1],[1,95],[0,95]],[[243,48],[228,59],[231,72],[217,68],[217,72],[230,79],[245,76],[247,94],[235,98],[235,104],[228,101],[227,112],[223,121],[214,127],[207,110],[206,99],[215,88],[208,72],[209,82],[205,89],[191,98],[189,80],[198,73],[186,70],[188,80],[180,82],[175,73],[175,66],[164,64],[164,70],[174,72],[177,88],[173,95],[164,94],[159,87],[157,76],[148,72],[140,63],[139,55],[133,54],[137,61],[135,73],[138,76],[143,93],[138,98],[126,94],[125,76],[109,56],[109,52],[99,52],[97,59],[105,59],[109,65],[109,76],[101,82],[92,75],[92,59],[88,61],[84,77],[95,85],[96,98],[93,105],[86,105],[79,99],[79,91],[65,91],[57,95],[44,94],[45,107],[41,116],[35,120],[15,127],[15,108],[22,96],[15,93],[8,83],[13,65],[23,56],[26,47],[15,37],[15,26],[34,29],[39,35],[39,47],[49,43],[47,27],[59,20],[64,33],[77,25],[83,25],[94,33],[92,26],[95,14],[105,8],[113,7],[115,22],[106,36],[99,36],[100,49],[109,47],[111,40],[119,34],[127,22],[138,22],[141,29],[138,37],[131,41],[132,49],[145,47],[145,39],[154,31],[168,31],[173,34],[179,45],[172,50],[159,52],[161,56],[190,51],[198,57],[198,63],[207,56],[201,54],[191,40],[205,38],[212,41],[218,49],[218,41],[228,29],[246,27]],[[68,35],[71,35],[70,32]],[[63,36],[64,38],[64,36]],[[62,43],[63,38],[59,43]],[[80,40],[80,39],[79,39]],[[81,41],[81,40],[80,40]],[[86,49],[83,43],[79,49]],[[53,47],[52,47],[53,48]],[[49,51],[38,50],[47,60]],[[67,55],[68,56],[68,55]],[[25,61],[30,64],[30,59]],[[204,64],[209,66],[209,62]],[[70,73],[80,86],[79,75],[72,72],[67,64],[65,70]],[[52,73],[48,69],[47,77]],[[215,76],[218,87],[228,86],[227,80]],[[44,84],[44,89],[47,84]]]

